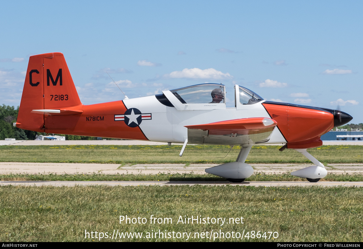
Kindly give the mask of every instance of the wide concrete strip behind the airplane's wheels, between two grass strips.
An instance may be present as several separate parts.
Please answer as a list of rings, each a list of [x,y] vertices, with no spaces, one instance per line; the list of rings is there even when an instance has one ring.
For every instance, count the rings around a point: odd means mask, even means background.
[[[135,164],[121,167],[120,164],[97,164],[97,163],[15,163],[0,162],[0,174],[207,174],[206,168],[218,164]],[[251,164],[254,172],[266,174],[281,174],[300,170],[314,164]],[[329,173],[336,174],[363,174],[363,164],[328,164],[326,167]]]

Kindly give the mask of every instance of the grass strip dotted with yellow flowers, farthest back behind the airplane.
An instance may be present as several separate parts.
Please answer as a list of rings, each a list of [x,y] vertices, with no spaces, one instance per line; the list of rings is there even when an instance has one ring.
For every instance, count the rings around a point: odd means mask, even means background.
[[[310,163],[295,150],[278,150],[280,146],[253,146],[247,163]],[[1,162],[39,163],[228,163],[234,162],[240,151],[235,146],[188,145],[182,157],[181,145],[112,146],[112,145],[64,145],[64,146],[0,146]],[[308,152],[322,163],[363,163],[363,146],[321,146]],[[223,158],[227,155],[225,158]]]

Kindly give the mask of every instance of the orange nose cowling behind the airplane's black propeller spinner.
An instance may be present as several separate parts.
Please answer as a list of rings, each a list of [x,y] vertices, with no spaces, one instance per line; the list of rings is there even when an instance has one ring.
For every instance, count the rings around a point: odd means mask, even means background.
[[[287,141],[287,148],[314,148],[322,145],[320,136],[334,127],[334,115],[310,106],[263,103]]]

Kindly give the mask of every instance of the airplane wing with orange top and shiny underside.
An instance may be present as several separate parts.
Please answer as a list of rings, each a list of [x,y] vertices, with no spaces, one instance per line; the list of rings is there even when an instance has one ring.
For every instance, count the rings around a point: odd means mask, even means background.
[[[185,127],[189,144],[239,145],[267,142],[276,125],[270,118],[241,118]]]

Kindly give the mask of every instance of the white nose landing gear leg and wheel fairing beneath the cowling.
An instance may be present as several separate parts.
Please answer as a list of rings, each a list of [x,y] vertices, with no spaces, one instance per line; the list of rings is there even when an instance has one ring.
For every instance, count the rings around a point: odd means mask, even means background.
[[[291,175],[306,178],[306,180],[310,181],[311,183],[316,183],[321,178],[325,177],[328,174],[324,165],[321,162],[319,162],[316,158],[314,158],[314,156],[310,155],[309,152],[306,151],[306,149],[295,149],[295,150],[303,154],[316,166],[310,166],[298,171],[291,172]]]

